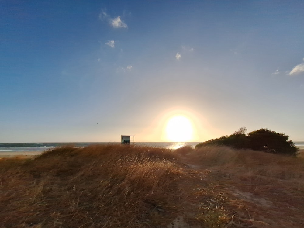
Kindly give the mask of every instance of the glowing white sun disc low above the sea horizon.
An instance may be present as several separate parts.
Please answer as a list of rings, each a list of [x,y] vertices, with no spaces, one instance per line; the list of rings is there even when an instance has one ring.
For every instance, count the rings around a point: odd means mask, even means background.
[[[186,116],[173,116],[166,124],[165,135],[171,142],[191,141],[193,138],[192,123]]]

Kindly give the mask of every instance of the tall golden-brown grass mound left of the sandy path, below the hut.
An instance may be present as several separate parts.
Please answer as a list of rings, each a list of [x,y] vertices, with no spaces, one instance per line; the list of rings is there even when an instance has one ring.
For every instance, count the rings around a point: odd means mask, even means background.
[[[60,147],[1,168],[0,227],[160,226],[173,219],[163,216],[183,175],[169,150],[114,145]]]

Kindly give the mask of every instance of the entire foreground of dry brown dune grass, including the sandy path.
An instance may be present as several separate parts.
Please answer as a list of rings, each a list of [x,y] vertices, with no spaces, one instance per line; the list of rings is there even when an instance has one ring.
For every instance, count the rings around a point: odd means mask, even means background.
[[[0,227],[302,227],[303,161],[110,144],[0,159]]]

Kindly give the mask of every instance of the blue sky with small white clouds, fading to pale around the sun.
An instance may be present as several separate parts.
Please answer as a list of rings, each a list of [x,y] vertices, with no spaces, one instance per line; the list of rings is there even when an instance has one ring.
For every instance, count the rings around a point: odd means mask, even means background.
[[[304,140],[303,9],[2,0],[0,142],[203,142],[243,126]]]

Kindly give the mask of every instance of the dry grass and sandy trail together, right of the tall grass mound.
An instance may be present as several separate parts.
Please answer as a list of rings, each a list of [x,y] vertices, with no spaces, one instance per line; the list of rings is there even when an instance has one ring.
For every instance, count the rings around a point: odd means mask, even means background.
[[[302,227],[304,159],[229,147],[181,151],[205,172],[193,194],[207,227]]]

